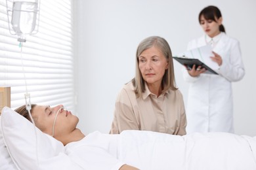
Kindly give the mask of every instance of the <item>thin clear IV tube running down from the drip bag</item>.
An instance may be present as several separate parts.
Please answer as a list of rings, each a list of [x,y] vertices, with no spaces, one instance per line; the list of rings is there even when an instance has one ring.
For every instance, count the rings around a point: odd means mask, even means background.
[[[30,93],[28,93],[28,88],[27,88],[27,80],[26,80],[26,75],[25,75],[25,70],[24,70],[24,63],[23,63],[23,58],[22,58],[22,42],[20,42],[19,44],[20,46],[20,58],[22,61],[22,71],[23,71],[23,76],[24,76],[24,80],[25,80],[25,86],[26,86],[26,94],[25,95],[25,100],[26,100],[26,109],[28,110],[28,114],[30,115],[30,120],[32,121],[33,127],[34,127],[34,131],[35,131],[35,154],[36,154],[36,158],[37,158],[37,167],[39,167],[39,158],[38,158],[38,140],[37,140],[37,131],[36,131],[36,127],[35,127],[35,122],[33,121],[32,118],[32,114],[31,114],[31,103],[30,103]]]

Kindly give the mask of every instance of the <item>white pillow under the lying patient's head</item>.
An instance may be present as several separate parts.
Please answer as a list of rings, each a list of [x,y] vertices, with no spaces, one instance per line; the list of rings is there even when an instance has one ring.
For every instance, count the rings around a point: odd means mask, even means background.
[[[3,141],[19,169],[80,169],[64,154],[64,145],[60,141],[37,127],[36,140],[32,122],[14,110],[4,107],[1,117]]]

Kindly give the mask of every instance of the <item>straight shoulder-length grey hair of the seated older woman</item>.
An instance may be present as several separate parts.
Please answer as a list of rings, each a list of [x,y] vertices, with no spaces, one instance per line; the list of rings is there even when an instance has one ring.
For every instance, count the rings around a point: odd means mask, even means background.
[[[157,47],[162,53],[163,56],[168,61],[168,69],[165,70],[165,74],[163,75],[163,79],[161,81],[161,88],[163,92],[171,88],[171,90],[177,90],[175,87],[175,75],[173,69],[173,56],[171,54],[171,48],[168,42],[158,36],[152,36],[144,39],[140,42],[137,48],[136,54],[136,73],[135,78],[133,78],[133,86],[135,87],[135,93],[137,93],[137,97],[140,97],[142,93],[145,91],[145,81],[142,78],[142,74],[139,69],[139,56],[144,50],[151,48],[152,46]]]

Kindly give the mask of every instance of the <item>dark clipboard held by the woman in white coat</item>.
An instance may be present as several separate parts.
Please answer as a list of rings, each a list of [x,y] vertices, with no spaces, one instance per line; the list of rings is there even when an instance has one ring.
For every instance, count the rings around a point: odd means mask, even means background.
[[[196,67],[198,67],[200,65],[201,67],[206,69],[205,73],[219,75],[218,73],[213,71],[213,69],[211,69],[210,67],[205,65],[205,63],[203,63],[199,59],[196,59],[196,58],[179,58],[179,57],[173,57],[173,58],[175,60],[177,60],[179,63],[181,63],[182,65],[186,65],[186,67],[188,69],[192,69],[193,65],[196,65]]]

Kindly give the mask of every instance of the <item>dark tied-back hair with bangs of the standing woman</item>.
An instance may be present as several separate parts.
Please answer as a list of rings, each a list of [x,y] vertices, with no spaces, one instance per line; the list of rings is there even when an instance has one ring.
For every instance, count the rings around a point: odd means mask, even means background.
[[[221,15],[221,10],[219,10],[217,7],[208,6],[208,7],[205,7],[203,10],[201,10],[201,12],[199,13],[199,16],[198,16],[199,23],[201,20],[201,16],[203,16],[205,20],[213,20],[217,22],[216,18],[219,19],[221,18],[222,15]],[[223,24],[219,25],[219,31],[226,33]]]

